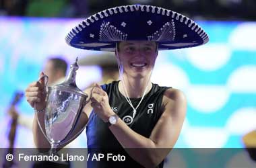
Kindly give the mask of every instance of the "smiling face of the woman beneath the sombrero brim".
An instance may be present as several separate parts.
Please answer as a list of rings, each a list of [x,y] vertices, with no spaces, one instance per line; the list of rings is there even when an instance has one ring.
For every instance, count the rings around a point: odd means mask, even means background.
[[[119,43],[119,60],[124,73],[131,77],[146,77],[152,69],[158,55],[156,42],[127,41]]]

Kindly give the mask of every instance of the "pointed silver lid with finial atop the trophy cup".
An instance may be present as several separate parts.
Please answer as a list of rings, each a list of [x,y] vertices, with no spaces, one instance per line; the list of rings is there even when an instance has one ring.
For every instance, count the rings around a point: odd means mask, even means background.
[[[86,95],[86,93],[84,93],[81,89],[79,89],[75,83],[76,71],[77,69],[79,69],[77,65],[77,60],[78,58],[76,58],[75,62],[70,66],[69,75],[67,75],[65,81],[61,84],[54,85],[51,88],[60,89],[60,90],[68,91],[71,93],[77,93],[78,95],[88,97],[88,95]]]

